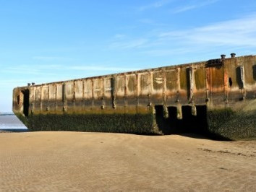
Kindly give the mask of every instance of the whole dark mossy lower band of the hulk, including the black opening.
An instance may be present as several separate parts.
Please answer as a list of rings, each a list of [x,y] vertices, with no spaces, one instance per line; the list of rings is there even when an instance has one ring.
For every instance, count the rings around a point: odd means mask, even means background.
[[[129,134],[195,133],[213,139],[256,139],[256,110],[207,110],[197,108],[197,116],[189,107],[183,108],[182,120],[174,118],[175,108],[168,108],[168,118],[162,108],[145,114],[37,114],[17,117],[29,131],[93,131]],[[200,110],[201,109],[201,110]]]

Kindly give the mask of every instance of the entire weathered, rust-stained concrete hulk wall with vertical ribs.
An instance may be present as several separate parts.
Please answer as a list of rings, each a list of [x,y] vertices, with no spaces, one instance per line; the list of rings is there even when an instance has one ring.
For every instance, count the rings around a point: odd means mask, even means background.
[[[17,87],[13,111],[32,131],[168,134],[195,121],[190,110],[207,131],[239,139],[256,136],[255,100],[256,56],[242,56]]]

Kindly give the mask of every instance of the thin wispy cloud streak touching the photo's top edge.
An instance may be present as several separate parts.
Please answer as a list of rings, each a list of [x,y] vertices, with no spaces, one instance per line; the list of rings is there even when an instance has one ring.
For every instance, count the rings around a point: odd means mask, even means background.
[[[185,6],[177,7],[176,9],[172,10],[172,13],[177,14],[181,12],[187,12],[192,9],[198,9],[202,6],[208,6],[209,4],[214,4],[217,1],[220,1],[220,0],[208,0],[208,1],[201,1],[201,2],[194,1],[193,4],[187,4]]]

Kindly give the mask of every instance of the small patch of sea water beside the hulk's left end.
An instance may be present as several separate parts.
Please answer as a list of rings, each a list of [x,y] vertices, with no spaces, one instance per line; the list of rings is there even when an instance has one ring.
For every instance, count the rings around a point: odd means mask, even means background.
[[[27,131],[27,127],[13,114],[0,114],[0,130]]]

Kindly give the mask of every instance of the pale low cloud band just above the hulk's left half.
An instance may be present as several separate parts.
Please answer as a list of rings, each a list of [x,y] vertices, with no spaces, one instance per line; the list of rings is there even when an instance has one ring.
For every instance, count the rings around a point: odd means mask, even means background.
[[[80,64],[73,66],[61,65],[35,65],[35,66],[14,66],[1,70],[4,74],[12,76],[12,79],[0,77],[0,86],[4,89],[27,85],[27,82],[36,84],[46,82],[59,82],[67,79],[79,79],[83,77],[98,76],[98,71],[103,74],[114,74],[124,71],[135,71],[137,68],[122,66],[100,66],[98,64]],[[50,71],[50,73],[49,73]]]

